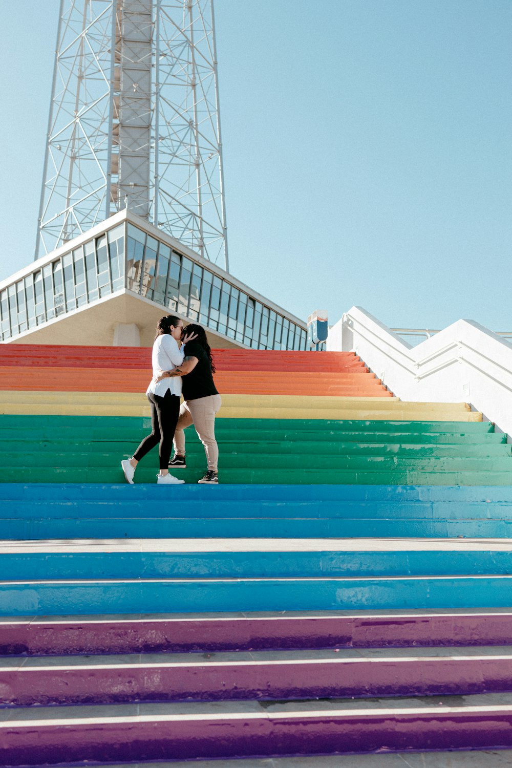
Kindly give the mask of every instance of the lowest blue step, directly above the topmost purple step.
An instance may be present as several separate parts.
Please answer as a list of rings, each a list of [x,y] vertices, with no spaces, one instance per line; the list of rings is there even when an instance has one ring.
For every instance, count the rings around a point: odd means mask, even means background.
[[[0,581],[0,615],[507,607],[510,575]]]

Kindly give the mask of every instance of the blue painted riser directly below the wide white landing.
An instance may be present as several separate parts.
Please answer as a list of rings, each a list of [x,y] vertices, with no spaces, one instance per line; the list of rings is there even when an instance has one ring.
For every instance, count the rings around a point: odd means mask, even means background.
[[[215,542],[213,542],[214,545]],[[338,544],[339,542],[337,542]],[[214,547],[212,545],[212,549]],[[434,546],[434,545],[433,545]],[[309,576],[503,575],[508,551],[42,551],[2,554],[4,581],[137,578],[282,578]],[[50,551],[48,551],[50,549]],[[177,548],[176,548],[177,549]],[[46,551],[45,551],[46,550]]]

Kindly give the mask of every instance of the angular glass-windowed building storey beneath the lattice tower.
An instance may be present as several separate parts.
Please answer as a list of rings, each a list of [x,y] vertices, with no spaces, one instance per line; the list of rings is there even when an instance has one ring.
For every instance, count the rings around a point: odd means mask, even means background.
[[[253,349],[306,349],[306,323],[123,213],[0,283],[0,341],[126,290]]]

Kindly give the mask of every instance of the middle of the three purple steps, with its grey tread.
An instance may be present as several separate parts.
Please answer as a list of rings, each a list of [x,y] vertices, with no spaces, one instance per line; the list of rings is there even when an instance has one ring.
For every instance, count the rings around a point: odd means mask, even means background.
[[[0,698],[7,707],[510,690],[511,646],[0,659]]]

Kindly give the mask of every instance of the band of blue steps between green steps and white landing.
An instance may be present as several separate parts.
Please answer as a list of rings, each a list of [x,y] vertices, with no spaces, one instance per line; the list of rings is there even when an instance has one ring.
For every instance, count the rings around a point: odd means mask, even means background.
[[[0,538],[512,536],[512,488],[0,485]]]

